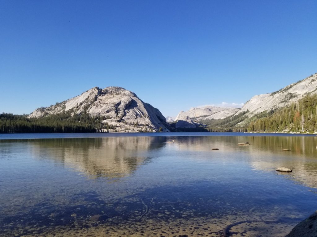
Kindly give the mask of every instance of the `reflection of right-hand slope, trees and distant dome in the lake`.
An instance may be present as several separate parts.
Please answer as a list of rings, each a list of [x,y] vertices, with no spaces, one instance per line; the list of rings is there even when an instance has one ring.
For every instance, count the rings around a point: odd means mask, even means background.
[[[217,156],[224,162],[228,161],[224,153],[231,154],[230,160],[237,159],[234,154],[248,153],[243,161],[248,161],[254,169],[276,173],[277,167],[288,167],[293,170],[292,173],[276,174],[317,188],[317,137],[171,137],[170,140],[174,143],[168,145],[174,149],[211,152],[211,157]],[[245,142],[250,145],[237,145]]]

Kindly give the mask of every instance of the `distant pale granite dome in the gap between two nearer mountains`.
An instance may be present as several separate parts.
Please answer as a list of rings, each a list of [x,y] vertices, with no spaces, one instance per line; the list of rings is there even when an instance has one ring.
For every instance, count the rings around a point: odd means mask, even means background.
[[[174,121],[176,121],[176,128],[196,128],[201,120],[224,119],[239,110],[240,108],[216,106],[192,107],[189,111],[179,112]]]

